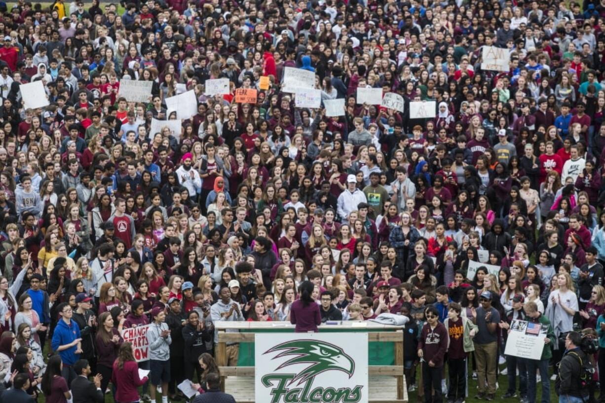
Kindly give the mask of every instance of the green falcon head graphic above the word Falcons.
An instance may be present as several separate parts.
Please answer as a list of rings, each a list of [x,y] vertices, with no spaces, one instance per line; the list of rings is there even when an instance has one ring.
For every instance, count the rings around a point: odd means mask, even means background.
[[[281,364],[276,370],[294,364],[311,364],[302,370],[290,381],[292,384],[298,379],[298,384],[315,378],[322,372],[336,370],[348,373],[348,377],[353,376],[355,372],[355,362],[345,354],[344,351],[334,344],[318,340],[294,340],[278,344],[267,350],[264,354],[281,351],[273,359],[293,356],[288,361]]]

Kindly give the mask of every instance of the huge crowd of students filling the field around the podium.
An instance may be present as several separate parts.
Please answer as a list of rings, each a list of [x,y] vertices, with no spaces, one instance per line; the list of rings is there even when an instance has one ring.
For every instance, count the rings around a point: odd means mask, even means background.
[[[471,378],[491,401],[504,372],[503,399],[535,403],[541,382],[548,403],[558,372],[562,402],[605,399],[605,0],[0,13],[2,400],[167,403],[189,379],[198,403],[233,401],[217,322],[388,315],[408,318],[408,390],[426,403],[462,403]],[[489,46],[508,70],[482,67]],[[321,108],[298,107],[286,68],[315,73]],[[206,95],[220,78],[229,92]],[[120,93],[128,79],[151,82],[148,102]],[[28,107],[33,82],[47,106]],[[183,91],[185,119],[166,108]],[[421,101],[434,118],[410,116]],[[541,324],[541,359],[504,355],[515,319]],[[123,330],[140,326],[137,362]],[[600,393],[578,387],[570,353],[595,363]]]

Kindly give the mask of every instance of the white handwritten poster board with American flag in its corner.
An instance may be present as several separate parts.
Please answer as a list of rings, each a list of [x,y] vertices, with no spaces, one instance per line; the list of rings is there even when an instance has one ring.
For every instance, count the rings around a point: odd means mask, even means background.
[[[511,331],[508,333],[508,339],[506,339],[505,355],[540,359],[544,349],[546,333],[548,333],[548,326],[514,319],[511,323]]]

